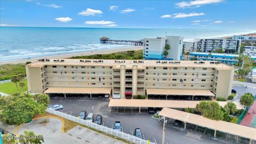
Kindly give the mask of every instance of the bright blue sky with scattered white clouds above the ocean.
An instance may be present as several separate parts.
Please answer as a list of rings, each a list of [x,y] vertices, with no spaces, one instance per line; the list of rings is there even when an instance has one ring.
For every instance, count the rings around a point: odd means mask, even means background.
[[[1,26],[256,29],[256,1],[2,1]]]

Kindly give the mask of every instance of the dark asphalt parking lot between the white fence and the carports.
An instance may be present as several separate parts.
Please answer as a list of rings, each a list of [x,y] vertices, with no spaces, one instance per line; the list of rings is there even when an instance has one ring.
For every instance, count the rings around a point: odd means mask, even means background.
[[[96,115],[102,115],[103,125],[108,127],[113,127],[115,121],[121,121],[125,133],[133,134],[134,129],[139,127],[146,140],[162,143],[163,122],[152,118],[153,115],[148,114],[146,109],[141,109],[141,113],[138,113],[137,109],[133,109],[133,113],[131,109],[125,109],[124,113],[124,108],[118,108],[109,113],[107,98],[51,98],[51,105],[55,104],[63,105],[61,111],[74,116],[78,116],[83,110],[86,110],[87,114],[94,113],[94,118]],[[234,141],[213,138],[212,135],[173,126],[170,122],[166,126],[165,143],[234,143]]]

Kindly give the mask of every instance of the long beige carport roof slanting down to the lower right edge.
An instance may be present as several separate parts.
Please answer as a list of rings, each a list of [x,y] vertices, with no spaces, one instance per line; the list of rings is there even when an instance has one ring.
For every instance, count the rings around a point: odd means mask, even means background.
[[[243,138],[256,140],[256,129],[252,127],[228,123],[225,121],[215,121],[212,119],[205,118],[203,116],[190,114],[184,111],[170,108],[163,108],[160,111],[159,115],[167,118],[177,119],[179,121],[183,121],[190,124],[207,127],[212,130],[238,135]]]

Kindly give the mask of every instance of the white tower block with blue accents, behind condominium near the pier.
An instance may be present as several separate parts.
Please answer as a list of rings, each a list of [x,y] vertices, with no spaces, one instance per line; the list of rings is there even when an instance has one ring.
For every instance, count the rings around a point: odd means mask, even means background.
[[[165,57],[165,45],[170,45]],[[145,60],[182,60],[183,37],[165,36],[144,38],[143,59]]]

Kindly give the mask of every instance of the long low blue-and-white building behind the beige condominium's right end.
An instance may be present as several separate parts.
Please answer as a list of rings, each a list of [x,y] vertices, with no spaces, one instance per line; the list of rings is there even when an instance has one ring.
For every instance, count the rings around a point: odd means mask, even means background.
[[[233,65],[234,63],[238,63],[237,57],[239,54],[226,54],[226,53],[209,53],[209,52],[193,52],[190,53],[191,56],[196,57],[197,60],[206,60],[206,61],[220,61],[221,63],[225,63],[227,65]],[[190,57],[190,59],[194,59]],[[254,61],[256,61],[256,57],[251,56]]]

